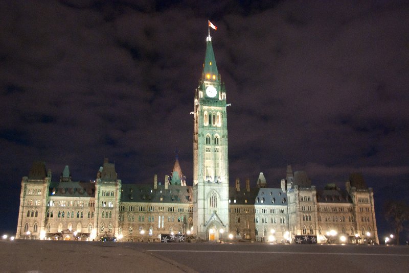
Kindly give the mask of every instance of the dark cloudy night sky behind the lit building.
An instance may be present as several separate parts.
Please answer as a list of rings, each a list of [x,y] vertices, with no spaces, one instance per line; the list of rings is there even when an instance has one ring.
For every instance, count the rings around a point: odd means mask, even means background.
[[[279,187],[287,164],[341,188],[361,171],[385,200],[409,193],[406,1],[2,1],[0,232],[15,233],[21,177],[153,184],[176,148],[192,185],[194,90],[208,20],[228,103],[230,184]],[[200,4],[198,4],[200,3]],[[401,234],[407,238],[407,232]]]

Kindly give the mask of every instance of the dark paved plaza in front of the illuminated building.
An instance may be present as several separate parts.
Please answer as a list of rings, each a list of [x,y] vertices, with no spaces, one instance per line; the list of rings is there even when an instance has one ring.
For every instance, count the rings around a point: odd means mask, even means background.
[[[0,241],[2,272],[407,272],[409,247]]]

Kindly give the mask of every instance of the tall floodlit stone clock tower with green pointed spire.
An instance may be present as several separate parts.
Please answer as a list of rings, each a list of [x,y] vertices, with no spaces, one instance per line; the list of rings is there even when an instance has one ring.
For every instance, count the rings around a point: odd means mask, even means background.
[[[209,34],[194,99],[193,217],[198,239],[220,240],[229,231],[228,142],[226,91]]]

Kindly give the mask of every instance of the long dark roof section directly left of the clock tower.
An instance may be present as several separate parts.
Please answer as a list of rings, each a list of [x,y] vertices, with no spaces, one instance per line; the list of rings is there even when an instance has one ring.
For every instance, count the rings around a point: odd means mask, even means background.
[[[162,201],[161,201],[162,197]],[[122,184],[121,202],[189,204],[193,201],[193,188],[181,185]]]

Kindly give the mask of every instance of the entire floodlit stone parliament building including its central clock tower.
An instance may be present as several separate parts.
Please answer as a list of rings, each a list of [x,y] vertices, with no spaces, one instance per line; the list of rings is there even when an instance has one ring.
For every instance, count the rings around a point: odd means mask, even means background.
[[[288,165],[276,187],[262,172],[253,188],[249,179],[230,187],[227,106],[209,35],[194,95],[193,185],[177,155],[169,176],[144,185],[122,184],[107,158],[87,182],[72,181],[69,166],[53,177],[35,161],[21,180],[16,238],[379,243],[373,190],[361,173],[344,189],[316,189],[305,171]]]

